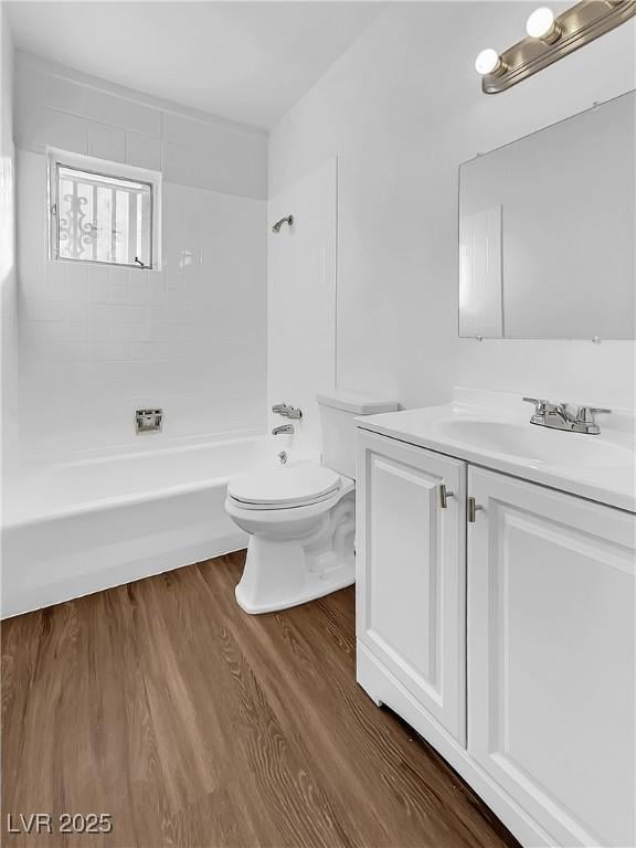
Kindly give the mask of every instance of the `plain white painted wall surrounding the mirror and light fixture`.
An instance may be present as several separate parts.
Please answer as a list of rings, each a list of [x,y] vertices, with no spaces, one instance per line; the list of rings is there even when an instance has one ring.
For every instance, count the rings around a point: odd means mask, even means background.
[[[632,22],[484,95],[475,55],[518,41],[534,7],[393,3],[272,132],[273,195],[338,156],[341,388],[405,406],[453,384],[634,405],[633,342],[457,337],[459,163],[635,84]]]

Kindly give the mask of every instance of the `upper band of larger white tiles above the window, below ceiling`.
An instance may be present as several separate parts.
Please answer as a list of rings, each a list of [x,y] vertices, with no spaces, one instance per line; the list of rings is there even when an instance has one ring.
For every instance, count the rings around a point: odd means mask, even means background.
[[[26,150],[74,152],[163,167],[171,182],[265,200],[267,137],[81,84],[73,72],[17,54],[15,140]],[[107,86],[107,84],[105,84]]]

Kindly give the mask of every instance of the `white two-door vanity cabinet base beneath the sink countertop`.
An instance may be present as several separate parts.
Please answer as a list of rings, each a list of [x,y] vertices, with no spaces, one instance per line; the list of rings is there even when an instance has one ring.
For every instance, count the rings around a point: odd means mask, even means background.
[[[634,846],[636,517],[358,434],[359,682],[523,845]]]

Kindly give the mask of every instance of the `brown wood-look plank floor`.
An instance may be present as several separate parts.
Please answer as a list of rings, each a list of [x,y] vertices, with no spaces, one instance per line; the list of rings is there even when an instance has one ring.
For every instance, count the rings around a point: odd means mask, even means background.
[[[353,590],[248,616],[242,565],[231,554],[2,624],[2,844],[517,846],[357,686]],[[20,813],[52,814],[55,833],[9,834]],[[61,835],[62,813],[110,814],[113,831]]]

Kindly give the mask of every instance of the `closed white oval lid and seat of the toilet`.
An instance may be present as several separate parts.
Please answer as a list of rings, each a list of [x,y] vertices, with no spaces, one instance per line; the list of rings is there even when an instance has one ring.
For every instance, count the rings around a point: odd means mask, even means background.
[[[243,504],[298,507],[321,500],[340,486],[340,475],[316,463],[282,465],[235,477],[227,494]]]

